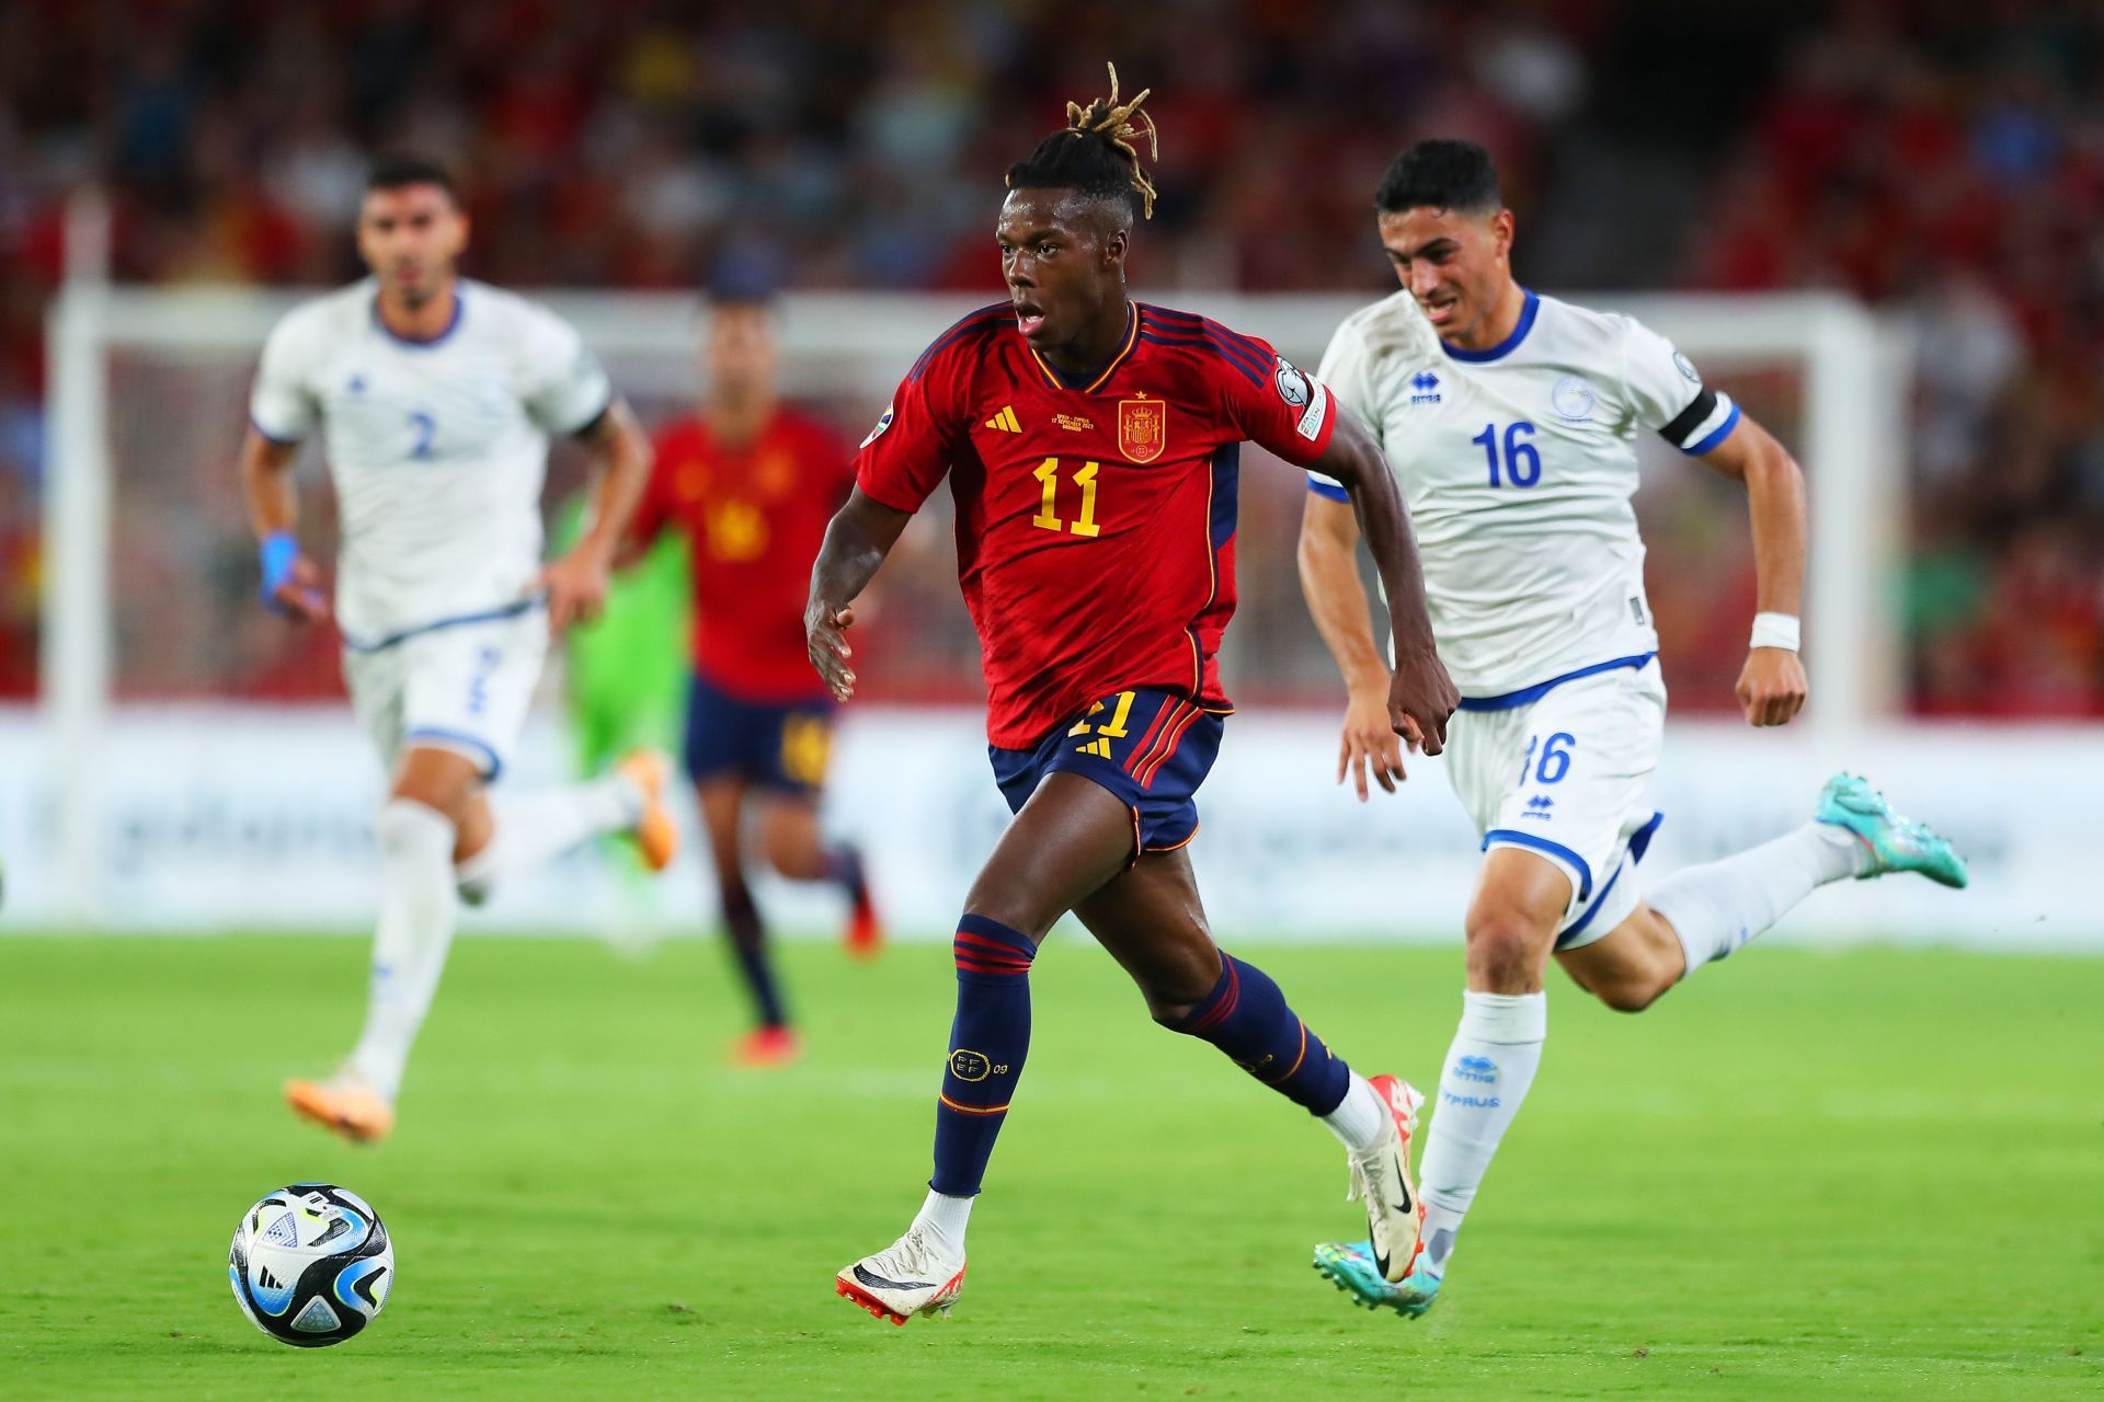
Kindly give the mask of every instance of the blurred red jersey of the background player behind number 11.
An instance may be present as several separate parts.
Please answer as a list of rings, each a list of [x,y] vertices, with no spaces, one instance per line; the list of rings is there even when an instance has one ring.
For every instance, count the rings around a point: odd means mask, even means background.
[[[848,496],[848,450],[829,427],[776,410],[749,444],[717,444],[701,418],[656,433],[635,534],[692,547],[694,671],[751,702],[825,689],[804,652],[804,599],[825,523]]]

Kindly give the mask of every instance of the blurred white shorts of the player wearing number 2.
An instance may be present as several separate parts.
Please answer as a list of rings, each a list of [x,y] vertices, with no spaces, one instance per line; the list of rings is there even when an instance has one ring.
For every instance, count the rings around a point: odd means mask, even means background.
[[[457,750],[494,780],[518,746],[547,658],[547,610],[444,622],[343,652],[351,710],[393,774],[408,746]]]

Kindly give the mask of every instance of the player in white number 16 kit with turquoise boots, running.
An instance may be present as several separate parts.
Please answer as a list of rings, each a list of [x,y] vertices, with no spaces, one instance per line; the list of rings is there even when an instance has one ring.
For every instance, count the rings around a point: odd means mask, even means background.
[[[1551,952],[1580,988],[1639,1011],[1818,885],[1915,870],[1957,887],[1965,866],[1864,780],[1837,776],[1812,822],[1639,895],[1637,862],[1662,818],[1647,788],[1666,689],[1631,509],[1637,433],[1746,488],[1759,612],[1738,702],[1751,725],[1784,725],[1805,702],[1803,475],[1664,336],[1513,280],[1513,214],[1481,147],[1414,145],[1376,210],[1403,290],[1338,328],[1317,378],[1401,477],[1433,637],[1462,694],[1448,774],[1485,855],[1418,1179],[1424,1253],[1401,1284],[1372,1270],[1363,1242],[1317,1246],[1315,1267],[1359,1303],[1420,1316],[1540,1064]],[[1363,799],[1372,767],[1393,792],[1401,748],[1355,568],[1359,528],[1332,483],[1311,477],[1309,490],[1300,580],[1351,694],[1338,780],[1353,771]]]

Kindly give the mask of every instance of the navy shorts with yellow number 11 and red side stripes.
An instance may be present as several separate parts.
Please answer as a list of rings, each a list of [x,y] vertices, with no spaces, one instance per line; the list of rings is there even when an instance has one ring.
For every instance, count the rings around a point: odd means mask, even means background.
[[[1065,769],[1132,809],[1134,855],[1174,851],[1197,834],[1197,786],[1220,755],[1227,710],[1176,692],[1113,692],[1027,750],[987,746],[993,780],[1020,813],[1044,776]]]

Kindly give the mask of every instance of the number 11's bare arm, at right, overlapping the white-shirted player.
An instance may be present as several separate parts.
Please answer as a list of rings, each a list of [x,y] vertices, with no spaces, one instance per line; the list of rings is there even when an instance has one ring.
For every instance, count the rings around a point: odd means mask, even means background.
[[[1311,467],[1323,477],[1332,477],[1351,496],[1351,515],[1365,536],[1365,547],[1374,555],[1374,568],[1380,572],[1380,584],[1389,597],[1395,635],[1389,725],[1397,736],[1410,740],[1412,748],[1437,755],[1445,748],[1445,723],[1460,704],[1460,692],[1433,645],[1431,614],[1424,605],[1424,572],[1418,565],[1418,544],[1410,534],[1410,511],[1403,507],[1403,494],[1395,486],[1395,475],[1380,456],[1374,437],[1351,414],[1338,416],[1330,446]],[[1363,591],[1359,593],[1359,631],[1370,633]],[[1317,626],[1321,626],[1319,620]],[[1342,664],[1342,658],[1338,662]],[[1399,755],[1393,774],[1401,776]]]

